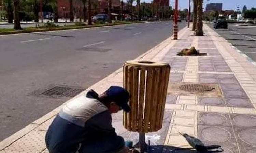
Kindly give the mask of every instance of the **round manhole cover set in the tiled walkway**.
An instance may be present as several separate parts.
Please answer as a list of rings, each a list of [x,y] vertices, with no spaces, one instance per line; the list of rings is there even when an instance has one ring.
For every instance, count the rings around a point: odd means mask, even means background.
[[[181,86],[179,86],[179,88],[181,90],[185,90],[185,91],[192,91],[192,92],[205,92],[205,91],[211,91],[215,88],[208,86],[208,85],[204,85],[204,84],[183,84]]]

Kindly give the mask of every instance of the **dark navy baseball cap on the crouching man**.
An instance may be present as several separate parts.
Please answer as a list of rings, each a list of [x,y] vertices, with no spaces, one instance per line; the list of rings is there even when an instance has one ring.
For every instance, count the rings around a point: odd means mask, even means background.
[[[131,108],[128,105],[130,99],[129,92],[119,86],[111,86],[108,90],[105,91],[109,100],[115,102],[120,106],[125,112],[130,112]]]

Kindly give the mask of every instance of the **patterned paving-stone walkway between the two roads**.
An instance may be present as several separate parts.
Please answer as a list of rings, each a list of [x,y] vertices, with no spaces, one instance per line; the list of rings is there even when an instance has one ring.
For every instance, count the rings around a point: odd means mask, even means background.
[[[170,37],[137,58],[171,65],[163,127],[146,134],[150,153],[196,153],[174,150],[190,148],[178,130],[200,138],[206,145],[221,145],[224,153],[256,153],[256,68],[206,24],[204,33],[205,36],[197,37],[184,28],[179,32],[179,40]],[[207,56],[176,56],[182,48],[190,46]],[[122,85],[122,77],[120,68],[90,88],[102,92],[110,85]],[[215,89],[173,91],[175,85],[195,83]],[[47,153],[44,136],[63,105],[0,142],[0,153]],[[122,112],[113,115],[113,126],[126,140],[138,141],[137,133],[123,128]]]

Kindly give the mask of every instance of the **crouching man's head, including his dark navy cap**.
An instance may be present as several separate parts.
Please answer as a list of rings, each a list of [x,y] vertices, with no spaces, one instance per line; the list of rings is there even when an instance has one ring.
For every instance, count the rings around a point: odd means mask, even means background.
[[[122,87],[111,86],[99,96],[99,99],[108,107],[110,113],[117,113],[121,109],[125,112],[130,112],[131,110],[127,104],[130,95],[128,91]]]

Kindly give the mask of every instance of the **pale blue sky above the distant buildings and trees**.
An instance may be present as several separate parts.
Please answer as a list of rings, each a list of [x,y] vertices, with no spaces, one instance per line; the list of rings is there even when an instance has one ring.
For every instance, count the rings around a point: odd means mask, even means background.
[[[153,0],[141,0],[142,2],[151,2]],[[175,0],[170,0],[170,5],[174,6]],[[178,0],[179,9],[183,10],[184,8],[188,8],[189,0]],[[240,6],[240,10],[242,11],[243,6],[246,5],[248,9],[251,7],[256,7],[256,0],[204,0],[203,8],[205,9],[207,3],[222,3],[222,10],[237,10],[237,5]],[[191,3],[191,6],[192,3]]]

